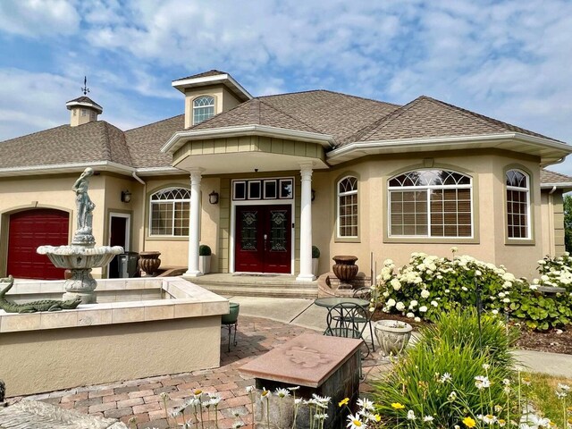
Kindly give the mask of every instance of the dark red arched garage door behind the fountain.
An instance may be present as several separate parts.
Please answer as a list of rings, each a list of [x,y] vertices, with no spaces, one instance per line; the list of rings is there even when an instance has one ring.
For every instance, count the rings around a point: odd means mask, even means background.
[[[39,246],[68,244],[69,214],[61,210],[33,209],[12,214],[8,235],[8,274],[21,279],[63,279]]]

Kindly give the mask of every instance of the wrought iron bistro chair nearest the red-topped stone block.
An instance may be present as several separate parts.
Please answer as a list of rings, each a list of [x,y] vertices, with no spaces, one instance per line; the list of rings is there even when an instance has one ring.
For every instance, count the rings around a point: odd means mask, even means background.
[[[326,316],[327,328],[324,335],[333,337],[345,337],[364,340],[364,330],[369,322],[371,313],[366,307],[350,302],[342,302],[331,307]],[[366,320],[366,323],[359,322]],[[367,355],[370,350],[367,342],[364,341],[367,348]]]

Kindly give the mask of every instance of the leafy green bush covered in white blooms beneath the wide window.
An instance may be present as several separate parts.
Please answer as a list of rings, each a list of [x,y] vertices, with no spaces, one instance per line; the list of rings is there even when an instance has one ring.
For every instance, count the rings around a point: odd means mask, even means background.
[[[572,323],[572,257],[568,254],[539,261],[540,279],[529,284],[503,265],[457,256],[457,248],[451,250],[451,258],[412,253],[408,265],[399,270],[391,259],[385,260],[377,276],[383,311],[434,322],[443,311],[475,306],[478,288],[484,311],[492,315],[510,315],[538,330]],[[545,295],[539,285],[564,287],[567,292]]]

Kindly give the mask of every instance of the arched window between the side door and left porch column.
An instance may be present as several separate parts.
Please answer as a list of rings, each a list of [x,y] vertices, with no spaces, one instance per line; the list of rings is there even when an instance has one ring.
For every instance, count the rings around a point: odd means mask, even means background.
[[[189,235],[189,189],[161,189],[151,195],[149,204],[149,235]]]

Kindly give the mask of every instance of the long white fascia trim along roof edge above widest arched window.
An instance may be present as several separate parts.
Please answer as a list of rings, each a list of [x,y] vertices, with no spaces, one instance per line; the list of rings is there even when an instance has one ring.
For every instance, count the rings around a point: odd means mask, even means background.
[[[521,141],[525,141],[527,143],[533,143],[538,146],[548,147],[551,149],[558,149],[566,152],[567,155],[572,153],[572,147],[568,146],[566,143],[559,143],[556,141],[551,141],[548,139],[542,139],[535,136],[529,136],[527,134],[522,134],[520,132],[510,132],[510,133],[502,133],[502,134],[489,134],[485,136],[452,136],[452,137],[439,137],[439,138],[429,138],[429,139],[395,139],[395,140],[372,140],[372,141],[363,141],[363,142],[354,142],[349,143],[348,145],[344,145],[338,149],[332,150],[329,152],[326,157],[327,159],[335,159],[339,156],[347,155],[353,151],[364,151],[368,149],[379,149],[383,147],[388,148],[414,148],[423,146],[426,147],[427,145],[442,145],[448,144],[451,146],[454,145],[462,145],[467,142],[486,142],[486,141],[494,141],[494,140],[509,140],[509,139],[517,139]],[[359,154],[359,156],[363,156]]]

